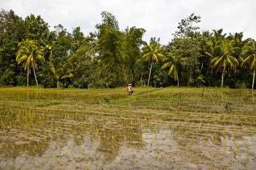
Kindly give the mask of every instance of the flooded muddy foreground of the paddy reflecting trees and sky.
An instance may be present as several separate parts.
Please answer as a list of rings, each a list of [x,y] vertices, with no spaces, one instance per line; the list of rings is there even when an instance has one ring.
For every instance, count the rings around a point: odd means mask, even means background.
[[[1,114],[0,169],[256,167],[255,127],[24,112]]]

